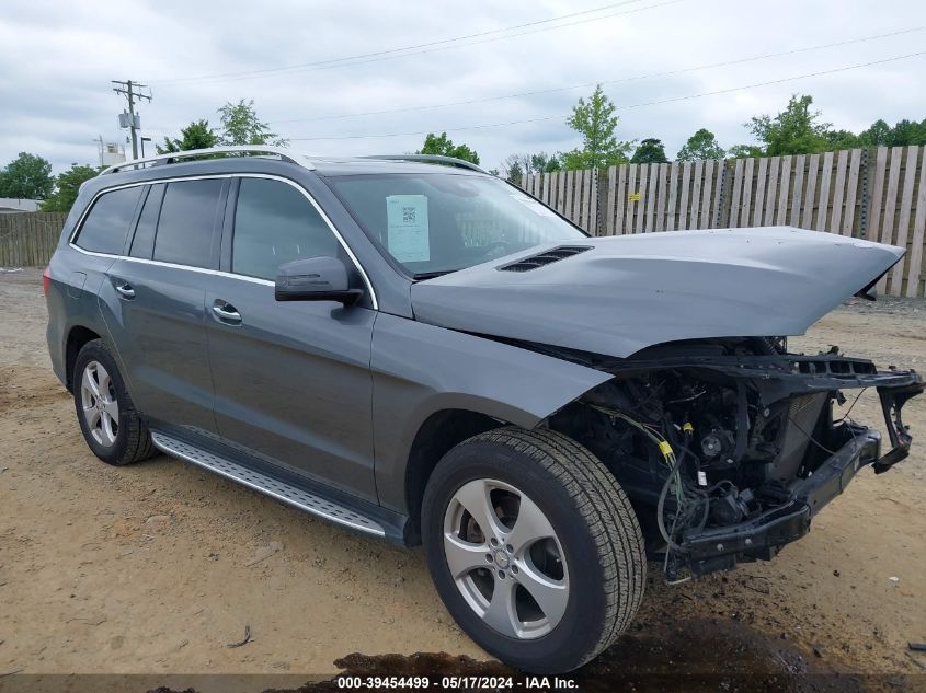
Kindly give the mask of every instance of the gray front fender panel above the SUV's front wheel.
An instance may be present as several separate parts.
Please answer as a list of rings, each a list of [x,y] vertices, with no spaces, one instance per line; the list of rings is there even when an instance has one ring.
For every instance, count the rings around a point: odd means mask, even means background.
[[[415,435],[445,409],[534,428],[611,376],[508,344],[389,314],[373,333],[373,428],[379,501],[407,512]]]

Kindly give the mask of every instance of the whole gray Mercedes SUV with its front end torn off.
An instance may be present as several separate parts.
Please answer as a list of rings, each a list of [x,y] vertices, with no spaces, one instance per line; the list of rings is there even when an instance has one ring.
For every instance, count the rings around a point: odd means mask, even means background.
[[[771,558],[907,455],[916,373],[786,338],[902,256],[792,228],[590,238],[458,160],[220,148],[83,186],[48,348],[104,462],[161,451],[424,544],[479,645],[561,672],[628,626],[648,559],[676,581]],[[883,452],[837,416],[864,388]]]

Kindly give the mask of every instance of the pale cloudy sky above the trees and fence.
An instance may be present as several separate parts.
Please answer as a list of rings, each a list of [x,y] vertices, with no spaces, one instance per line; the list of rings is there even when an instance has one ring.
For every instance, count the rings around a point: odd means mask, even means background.
[[[578,147],[565,117],[601,82],[619,139],[672,158],[701,127],[751,142],[743,124],[791,94],[836,128],[921,120],[924,51],[922,0],[4,0],[0,166],[96,164],[98,137],[125,142],[111,81],[129,79],[156,142],[253,99],[304,153],[405,153],[446,130],[487,168]]]

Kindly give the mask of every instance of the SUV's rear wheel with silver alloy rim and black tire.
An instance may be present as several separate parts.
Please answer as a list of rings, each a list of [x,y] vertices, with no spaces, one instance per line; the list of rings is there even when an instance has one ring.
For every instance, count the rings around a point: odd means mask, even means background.
[[[83,345],[71,382],[80,431],[93,454],[106,464],[123,466],[157,453],[148,426],[135,409],[116,360],[102,339]]]

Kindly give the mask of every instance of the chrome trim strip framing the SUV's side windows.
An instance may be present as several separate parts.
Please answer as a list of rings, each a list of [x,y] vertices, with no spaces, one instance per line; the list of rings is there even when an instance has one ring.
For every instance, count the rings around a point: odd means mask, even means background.
[[[287,185],[291,185],[297,190],[299,190],[302,196],[309,200],[311,206],[315,210],[319,213],[322,218],[324,223],[328,224],[328,228],[334,234],[334,238],[338,239],[338,242],[341,244],[341,247],[344,249],[344,252],[347,253],[347,256],[351,258],[351,262],[354,263],[354,266],[357,268],[361,277],[363,277],[364,284],[366,285],[367,290],[369,291],[370,302],[373,303],[373,310],[379,310],[379,301],[376,298],[376,291],[373,289],[373,282],[369,280],[369,276],[366,274],[361,261],[357,259],[357,256],[354,255],[354,251],[351,250],[351,246],[347,245],[347,242],[344,240],[344,236],[341,235],[341,232],[334,227],[331,222],[331,219],[324,212],[324,210],[319,206],[316,199],[309,194],[309,192],[304,188],[301,185],[296,183],[295,181],[290,181],[289,178],[285,178],[279,175],[272,175],[268,173],[215,173],[215,174],[205,174],[205,175],[185,175],[185,176],[173,176],[169,178],[156,178],[151,181],[140,181],[136,183],[125,183],[123,185],[114,185],[112,187],[104,188],[96,193],[93,196],[93,199],[90,200],[90,204],[87,205],[87,208],[81,212],[80,218],[77,220],[75,224],[75,230],[71,232],[70,238],[68,239],[68,245],[73,250],[83,253],[84,255],[93,255],[95,257],[112,257],[114,259],[125,259],[133,263],[142,263],[148,265],[156,265],[161,267],[171,267],[174,269],[187,269],[190,272],[198,272],[201,274],[207,275],[215,275],[217,277],[229,277],[231,279],[242,279],[243,281],[251,281],[253,284],[261,284],[265,286],[275,286],[274,281],[270,281],[268,279],[259,279],[258,277],[248,277],[245,275],[240,275],[233,272],[222,272],[219,269],[209,269],[207,267],[194,267],[192,265],[180,265],[175,263],[165,263],[159,259],[146,259],[144,257],[132,257],[129,255],[116,255],[112,253],[95,253],[93,251],[87,251],[80,247],[77,243],[75,243],[75,239],[77,239],[78,233],[83,228],[83,222],[87,219],[87,215],[90,213],[90,210],[93,208],[93,204],[96,201],[101,195],[105,195],[106,193],[112,193],[113,190],[119,190],[127,187],[138,187],[141,185],[158,185],[159,183],[176,183],[181,181],[203,181],[203,180],[214,180],[214,178],[267,178],[271,181],[279,181],[281,183],[286,183]],[[232,229],[233,233],[233,229]]]

